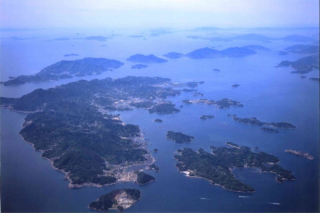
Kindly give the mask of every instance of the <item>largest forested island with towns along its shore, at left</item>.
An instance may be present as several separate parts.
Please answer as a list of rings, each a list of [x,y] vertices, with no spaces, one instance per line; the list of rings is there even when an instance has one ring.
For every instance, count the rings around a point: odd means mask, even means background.
[[[29,113],[19,134],[65,173],[69,187],[101,186],[116,183],[126,167],[154,162],[139,126],[125,125],[109,111],[137,103],[148,103],[139,105],[144,109],[158,106],[180,94],[163,86],[169,83],[168,78],[133,76],[80,80],[20,98],[1,97],[0,103]]]

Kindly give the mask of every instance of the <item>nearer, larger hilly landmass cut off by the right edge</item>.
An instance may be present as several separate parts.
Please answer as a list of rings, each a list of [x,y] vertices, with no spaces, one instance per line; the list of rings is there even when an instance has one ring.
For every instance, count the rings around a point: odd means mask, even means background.
[[[313,69],[319,70],[319,54],[306,56],[296,61],[281,61],[276,67],[290,66],[294,70],[291,73],[305,74]]]

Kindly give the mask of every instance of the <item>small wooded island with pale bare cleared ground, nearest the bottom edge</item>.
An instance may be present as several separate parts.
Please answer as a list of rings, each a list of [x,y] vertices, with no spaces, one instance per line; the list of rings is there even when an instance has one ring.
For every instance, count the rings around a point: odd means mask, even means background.
[[[88,207],[100,212],[106,212],[109,209],[122,212],[137,202],[141,197],[140,194],[138,189],[116,189],[91,202]]]

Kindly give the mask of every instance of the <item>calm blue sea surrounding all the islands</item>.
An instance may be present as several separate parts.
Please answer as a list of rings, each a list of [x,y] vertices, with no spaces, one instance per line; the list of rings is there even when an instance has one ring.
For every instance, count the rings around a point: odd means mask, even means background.
[[[233,37],[259,33],[274,38],[299,34],[311,36],[319,29],[215,29],[185,30],[158,29],[6,29],[1,31],[1,81],[9,76],[32,75],[42,68],[62,60],[85,57],[115,59],[125,65],[100,75],[73,77],[58,81],[26,83],[18,86],[0,85],[2,97],[21,97],[35,89],[48,89],[80,79],[92,80],[106,77],[160,76],[173,82],[204,81],[197,92],[204,96],[193,97],[182,92],[168,100],[180,112],[150,114],[147,110],[111,111],[120,114],[125,123],[141,127],[149,143],[147,149],[156,159],[159,172],[146,170],[156,178],[145,185],[120,183],[105,187],[68,188],[64,173],[54,169],[31,144],[19,135],[25,113],[0,110],[1,141],[1,212],[95,212],[88,208],[90,202],[114,189],[136,188],[141,199],[126,209],[127,213],[178,213],[178,212],[319,212],[319,83],[309,80],[319,77],[319,70],[308,74],[291,74],[290,67],[275,67],[281,61],[295,61],[305,55],[279,55],[278,51],[293,45],[309,42],[271,40],[210,41],[201,38]],[[170,32],[170,33],[169,33]],[[130,37],[142,35],[144,37]],[[87,40],[90,36],[107,37],[105,41]],[[260,45],[271,51],[257,51],[246,57],[211,59],[167,59],[165,63],[150,63],[144,69],[130,69],[126,59],[134,54],[154,54],[162,57],[168,52],[188,53],[198,48]],[[65,54],[79,56],[64,57]],[[213,69],[219,69],[215,72]],[[237,88],[231,85],[240,84]],[[184,99],[229,98],[240,101],[244,107],[218,109],[205,104],[184,105]],[[179,106],[183,105],[182,108]],[[226,114],[240,118],[256,117],[263,122],[289,122],[296,129],[280,129],[279,133],[261,131],[259,126],[233,121]],[[201,115],[214,119],[200,120]],[[154,122],[161,119],[162,123]],[[191,143],[176,144],[165,138],[172,130],[195,137]],[[276,175],[260,172],[256,168],[233,169],[234,176],[256,189],[254,193],[225,190],[201,178],[190,178],[177,171],[173,156],[178,149],[199,148],[209,152],[210,146],[224,147],[231,141],[240,146],[258,149],[280,159],[279,165],[293,172],[295,181],[277,183]],[[152,152],[153,149],[158,152]],[[314,156],[308,160],[285,152],[286,149],[303,151]],[[110,210],[110,212],[116,212]]]

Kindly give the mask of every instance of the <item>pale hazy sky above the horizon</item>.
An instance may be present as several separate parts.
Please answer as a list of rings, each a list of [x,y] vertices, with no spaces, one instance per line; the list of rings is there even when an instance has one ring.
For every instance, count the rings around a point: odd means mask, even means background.
[[[0,0],[1,28],[319,26],[319,0]]]

